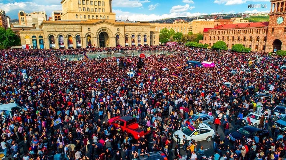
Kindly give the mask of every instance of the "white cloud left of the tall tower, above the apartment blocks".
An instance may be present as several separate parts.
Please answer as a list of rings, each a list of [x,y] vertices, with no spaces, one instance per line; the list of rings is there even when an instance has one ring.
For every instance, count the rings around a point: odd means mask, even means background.
[[[24,10],[26,13],[35,11],[46,11],[47,16],[51,15],[53,10],[62,10],[62,5],[47,5],[47,4],[37,4],[34,2],[14,2],[3,4],[0,3],[1,9],[6,11],[6,14],[11,18],[18,19],[19,10]],[[31,7],[32,6],[32,7]]]

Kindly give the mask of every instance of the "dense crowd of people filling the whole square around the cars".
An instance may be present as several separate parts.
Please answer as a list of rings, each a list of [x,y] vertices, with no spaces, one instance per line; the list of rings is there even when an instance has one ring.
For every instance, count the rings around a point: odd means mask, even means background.
[[[57,57],[132,49],[176,51],[176,54],[146,56],[143,68],[136,69],[135,77],[126,74],[131,67],[119,69],[113,57],[81,61]],[[257,57],[262,57],[261,61],[252,63]],[[280,69],[285,59],[275,55],[272,59],[268,57],[262,52],[245,54],[180,45],[0,50],[0,104],[15,102],[26,108],[14,109],[11,115],[1,113],[3,154],[9,159],[23,160],[129,160],[162,151],[168,159],[180,159],[186,154],[191,160],[280,160],[285,156],[286,134],[272,127],[279,117],[271,110],[275,105],[286,103],[286,72]],[[137,56],[120,59],[128,66],[136,66],[139,61]],[[211,61],[216,66],[186,67],[187,60]],[[240,72],[240,68],[251,72]],[[27,79],[23,79],[21,69],[26,69]],[[231,85],[228,87],[225,82]],[[269,85],[275,86],[270,91],[270,100],[254,97],[269,91]],[[269,129],[270,136],[242,138],[231,143],[229,126],[224,121],[235,121],[237,128],[241,127],[242,117],[251,110],[258,110],[257,102],[266,110],[261,127]],[[221,107],[226,107],[226,111],[220,110]],[[195,140],[181,149],[172,139],[176,130],[186,126],[181,119],[199,113],[218,117],[216,129],[225,129],[225,134],[217,133],[213,139],[213,155],[204,153],[203,146],[198,148]],[[152,126],[151,136],[133,140],[107,123],[114,116],[124,115]]]

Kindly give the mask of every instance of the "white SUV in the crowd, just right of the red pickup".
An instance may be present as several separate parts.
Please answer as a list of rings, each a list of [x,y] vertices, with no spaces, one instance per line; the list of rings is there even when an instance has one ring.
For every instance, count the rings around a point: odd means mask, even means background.
[[[212,126],[209,126],[206,123],[200,123],[197,128],[195,128],[193,125],[189,125],[176,131],[173,134],[173,139],[176,142],[179,139],[180,144],[183,144],[183,135],[186,136],[187,140],[193,139],[196,142],[206,140],[207,142],[210,142],[215,136],[215,130],[212,128]]]

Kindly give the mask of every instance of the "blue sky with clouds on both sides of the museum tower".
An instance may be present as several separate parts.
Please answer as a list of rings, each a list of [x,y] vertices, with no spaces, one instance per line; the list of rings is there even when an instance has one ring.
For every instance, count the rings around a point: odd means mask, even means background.
[[[77,0],[75,0],[77,1]],[[100,0],[99,0],[100,1]],[[267,8],[247,8],[248,4],[266,4]],[[113,0],[112,11],[117,20],[157,20],[223,13],[270,12],[269,0]],[[18,11],[61,10],[60,0],[0,0],[0,8],[11,18],[18,19]]]

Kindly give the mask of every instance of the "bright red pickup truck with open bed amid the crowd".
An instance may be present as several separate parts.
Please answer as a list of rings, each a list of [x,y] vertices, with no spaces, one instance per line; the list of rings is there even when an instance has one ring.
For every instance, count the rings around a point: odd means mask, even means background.
[[[134,139],[138,140],[143,135],[147,135],[151,132],[151,128],[142,123],[136,122],[136,118],[131,116],[113,117],[108,120],[109,124],[112,124],[115,128],[121,128],[121,131],[126,132]]]

